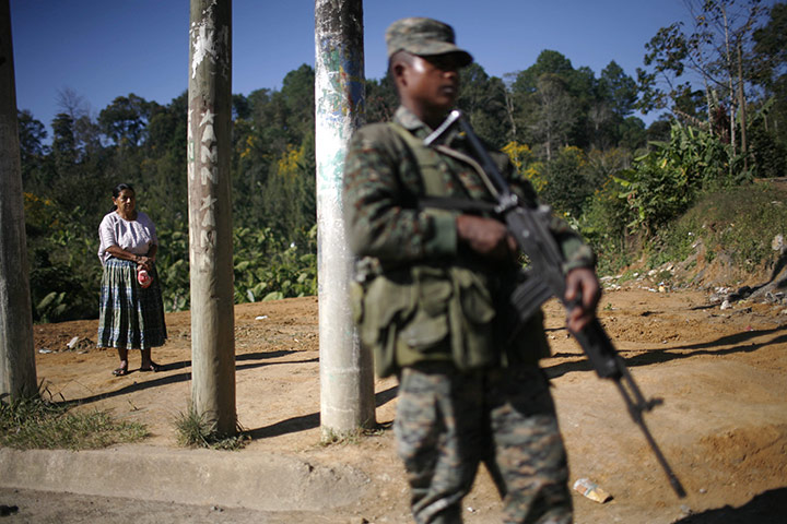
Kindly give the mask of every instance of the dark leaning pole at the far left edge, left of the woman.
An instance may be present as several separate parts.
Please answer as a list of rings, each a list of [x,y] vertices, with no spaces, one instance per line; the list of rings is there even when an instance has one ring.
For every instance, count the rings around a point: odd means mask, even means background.
[[[38,392],[17,126],[11,8],[0,0],[0,398]]]

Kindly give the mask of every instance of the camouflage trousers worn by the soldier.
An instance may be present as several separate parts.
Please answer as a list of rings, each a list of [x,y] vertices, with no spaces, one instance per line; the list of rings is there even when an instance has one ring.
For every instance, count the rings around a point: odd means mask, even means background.
[[[393,429],[416,523],[462,522],[461,499],[481,462],[505,523],[572,522],[565,448],[540,368],[404,368]]]

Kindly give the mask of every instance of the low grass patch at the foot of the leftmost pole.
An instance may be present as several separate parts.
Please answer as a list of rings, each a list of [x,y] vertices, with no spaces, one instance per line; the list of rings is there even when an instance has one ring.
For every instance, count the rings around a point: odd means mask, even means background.
[[[138,442],[148,436],[139,422],[116,420],[106,412],[72,413],[42,394],[0,398],[0,445],[17,450],[94,450]]]

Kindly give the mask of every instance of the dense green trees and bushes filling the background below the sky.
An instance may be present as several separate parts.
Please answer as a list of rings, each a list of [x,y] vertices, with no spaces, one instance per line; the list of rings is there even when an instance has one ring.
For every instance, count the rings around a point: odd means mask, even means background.
[[[787,4],[686,3],[697,25],[660,29],[636,80],[614,61],[596,74],[550,49],[503,79],[478,63],[462,71],[460,109],[588,238],[602,274],[639,260],[642,246],[656,243],[661,258],[686,254],[689,233],[702,231],[677,218],[707,194],[756,192],[753,180],[787,172]],[[367,121],[389,119],[389,79],[368,80],[365,102]],[[118,96],[97,118],[72,92],[60,93],[60,106],[50,140],[33,115],[19,114],[34,320],[97,315],[97,227],[121,181],[134,184],[156,224],[166,310],[188,309],[186,94],[168,105]],[[635,109],[668,112],[646,128]],[[233,96],[236,302],[317,291],[314,129],[306,64],[279,91]],[[713,241],[740,242],[737,255],[756,264],[772,227],[753,228],[747,245],[745,222]],[[682,243],[672,240],[681,235]]]

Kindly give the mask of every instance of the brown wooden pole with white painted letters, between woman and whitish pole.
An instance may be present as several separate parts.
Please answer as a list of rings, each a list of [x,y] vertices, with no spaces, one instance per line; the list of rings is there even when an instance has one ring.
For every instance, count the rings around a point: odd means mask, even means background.
[[[233,436],[232,0],[191,0],[188,82],[191,405]]]

